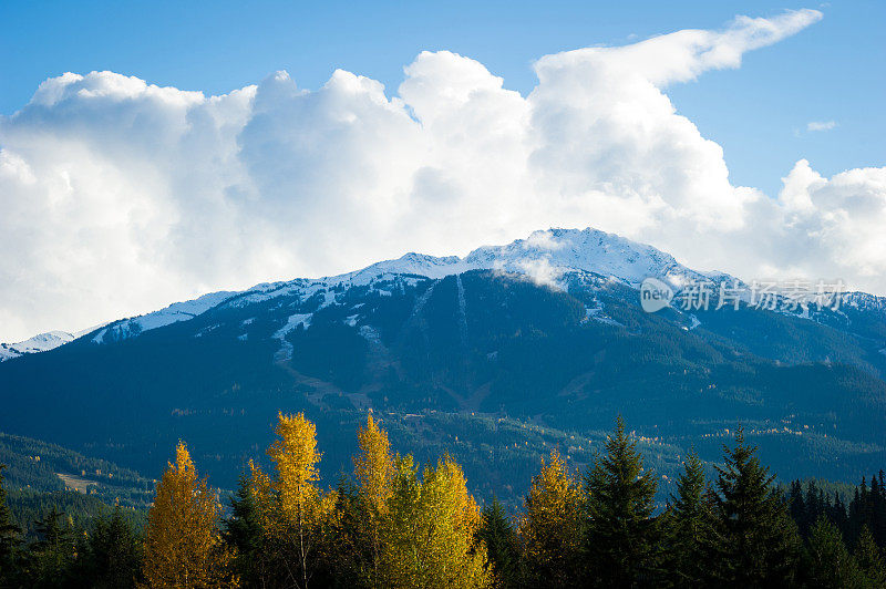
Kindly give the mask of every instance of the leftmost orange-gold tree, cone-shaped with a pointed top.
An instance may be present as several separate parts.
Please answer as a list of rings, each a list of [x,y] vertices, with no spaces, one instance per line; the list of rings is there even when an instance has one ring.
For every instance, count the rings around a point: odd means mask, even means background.
[[[144,577],[147,587],[231,587],[230,555],[218,527],[218,500],[197,471],[184,442],[175,448],[157,485],[145,533]]]

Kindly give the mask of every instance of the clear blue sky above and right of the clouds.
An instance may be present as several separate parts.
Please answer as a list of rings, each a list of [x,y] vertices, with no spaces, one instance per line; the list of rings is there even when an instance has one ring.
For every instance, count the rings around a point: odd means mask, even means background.
[[[815,8],[824,19],[668,89],[678,111],[725,152],[733,184],[775,195],[794,162],[824,175],[886,161],[886,2],[109,2],[0,3],[0,113],[22,107],[47,78],[111,70],[148,83],[226,93],[287,70],[300,87],[341,68],[389,95],[422,50],[476,59],[529,92],[533,60],[620,45],[679,29],[715,29],[735,14]],[[812,121],[834,121],[808,133]]]

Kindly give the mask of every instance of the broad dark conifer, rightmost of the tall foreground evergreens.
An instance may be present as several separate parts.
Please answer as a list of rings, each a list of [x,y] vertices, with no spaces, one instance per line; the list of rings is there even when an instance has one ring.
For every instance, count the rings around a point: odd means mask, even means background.
[[[717,467],[718,582],[760,587],[790,585],[799,555],[796,526],[772,487],[774,475],[760,464],[756,447],[735,434],[735,447],[723,446],[724,466]]]

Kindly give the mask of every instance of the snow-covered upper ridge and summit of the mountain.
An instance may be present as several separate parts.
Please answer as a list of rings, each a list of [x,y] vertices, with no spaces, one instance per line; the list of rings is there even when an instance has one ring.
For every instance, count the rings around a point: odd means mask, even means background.
[[[380,261],[343,275],[266,282],[239,292],[213,292],[194,300],[173,303],[153,313],[113,321],[101,329],[94,328],[76,334],[55,331],[35,335],[24,342],[0,344],[0,361],[23,353],[51,350],[84,333],[90,333],[90,339],[94,343],[109,343],[137,337],[153,329],[190,320],[216,307],[243,307],[288,296],[298,296],[307,300],[318,292],[326,297],[323,306],[328,306],[334,303],[350,288],[381,283],[392,277],[406,281],[414,281],[418,277],[441,279],[471,270],[524,275],[535,282],[562,289],[567,288],[563,279],[569,275],[593,277],[596,280],[615,280],[632,289],[639,288],[643,279],[653,277],[669,283],[676,291],[687,283],[697,281],[709,281],[714,285],[742,283],[722,272],[701,272],[690,269],[669,254],[615,234],[593,228],[548,229],[535,231],[526,239],[518,239],[504,246],[480,247],[464,258],[410,252],[401,258]],[[886,309],[886,298],[883,297],[863,292],[847,293],[845,297],[846,302],[854,309],[877,311]],[[280,338],[284,335],[281,332]]]

